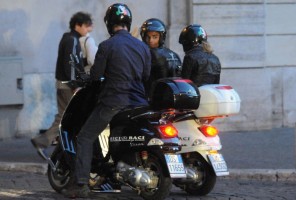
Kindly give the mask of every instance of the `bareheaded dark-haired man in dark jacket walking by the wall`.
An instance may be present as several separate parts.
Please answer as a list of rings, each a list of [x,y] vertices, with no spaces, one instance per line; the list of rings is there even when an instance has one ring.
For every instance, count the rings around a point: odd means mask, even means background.
[[[90,14],[77,12],[71,17],[69,22],[70,32],[64,33],[60,41],[55,71],[58,114],[56,114],[51,127],[44,134],[37,135],[31,139],[39,155],[45,159],[47,156],[44,149],[49,147],[58,135],[59,123],[63,112],[77,88],[77,86],[71,84],[71,80],[74,80],[76,75],[75,70],[71,68],[69,63],[71,60],[70,54],[77,56],[80,70],[84,71],[79,38],[85,36],[90,31],[91,26],[92,19]]]

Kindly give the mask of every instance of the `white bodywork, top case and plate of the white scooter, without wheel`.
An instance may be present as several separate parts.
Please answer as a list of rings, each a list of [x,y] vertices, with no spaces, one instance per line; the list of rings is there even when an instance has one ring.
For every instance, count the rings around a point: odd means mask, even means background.
[[[182,150],[180,154],[198,153],[215,171],[216,176],[229,175],[218,135],[209,137],[199,129],[203,125],[219,117],[227,117],[239,113],[240,97],[229,85],[212,84],[199,87],[200,105],[194,111],[195,119],[177,121],[174,126],[179,131]]]

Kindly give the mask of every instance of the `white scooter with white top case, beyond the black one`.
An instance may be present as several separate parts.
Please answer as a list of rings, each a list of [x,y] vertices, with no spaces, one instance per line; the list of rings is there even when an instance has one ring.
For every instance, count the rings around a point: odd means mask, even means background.
[[[174,181],[177,187],[192,195],[206,195],[215,186],[217,176],[229,171],[223,155],[218,129],[211,125],[216,118],[239,113],[240,97],[229,85],[213,84],[199,87],[199,108],[175,120],[182,143],[186,179]]]

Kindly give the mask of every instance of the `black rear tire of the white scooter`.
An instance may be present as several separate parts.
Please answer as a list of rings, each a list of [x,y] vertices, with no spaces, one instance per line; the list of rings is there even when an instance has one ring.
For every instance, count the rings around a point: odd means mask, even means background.
[[[191,155],[186,164],[193,164],[201,173],[201,181],[185,184],[184,190],[196,196],[205,196],[210,193],[216,184],[216,174],[212,166],[201,155],[196,154]]]

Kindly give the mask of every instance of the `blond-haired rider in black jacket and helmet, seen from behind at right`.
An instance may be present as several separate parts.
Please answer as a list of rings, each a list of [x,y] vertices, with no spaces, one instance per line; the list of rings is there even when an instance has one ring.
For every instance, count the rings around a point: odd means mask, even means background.
[[[185,52],[182,78],[192,80],[198,87],[220,82],[221,64],[207,38],[206,31],[198,24],[185,27],[179,37]]]

